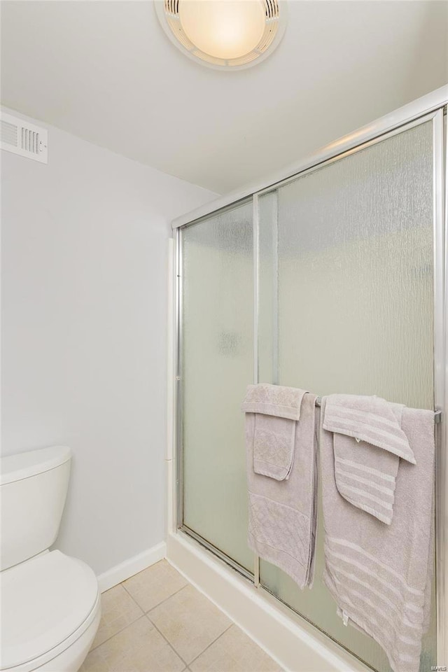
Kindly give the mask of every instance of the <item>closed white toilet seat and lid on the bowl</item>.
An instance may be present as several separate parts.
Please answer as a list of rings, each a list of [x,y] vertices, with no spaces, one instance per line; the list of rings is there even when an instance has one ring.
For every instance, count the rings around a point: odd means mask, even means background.
[[[1,671],[42,666],[76,642],[99,614],[97,577],[60,551],[4,570],[0,582]]]

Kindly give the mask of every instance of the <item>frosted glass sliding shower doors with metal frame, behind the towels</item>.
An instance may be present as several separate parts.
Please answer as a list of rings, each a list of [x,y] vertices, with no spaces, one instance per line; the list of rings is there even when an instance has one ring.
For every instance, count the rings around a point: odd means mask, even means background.
[[[378,672],[390,670],[386,655],[344,626],[321,580],[321,518],[311,590],[248,549],[240,405],[247,384],[267,382],[444,411],[446,100],[431,100],[174,223],[178,526]],[[422,672],[447,664],[443,421],[435,432],[437,572]]]

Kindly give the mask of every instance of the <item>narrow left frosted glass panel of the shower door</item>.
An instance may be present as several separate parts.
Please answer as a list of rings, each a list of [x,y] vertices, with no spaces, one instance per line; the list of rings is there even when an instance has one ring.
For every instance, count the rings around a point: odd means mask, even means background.
[[[183,241],[183,521],[253,571],[244,416],[253,381],[252,203]]]

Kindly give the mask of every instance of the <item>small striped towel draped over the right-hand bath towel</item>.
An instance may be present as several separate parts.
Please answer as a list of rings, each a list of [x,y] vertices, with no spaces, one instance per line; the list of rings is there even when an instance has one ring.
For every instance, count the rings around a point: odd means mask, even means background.
[[[379,397],[332,394],[323,416],[323,428],[334,434],[339,493],[388,525],[400,458],[415,464],[401,429],[402,409]]]

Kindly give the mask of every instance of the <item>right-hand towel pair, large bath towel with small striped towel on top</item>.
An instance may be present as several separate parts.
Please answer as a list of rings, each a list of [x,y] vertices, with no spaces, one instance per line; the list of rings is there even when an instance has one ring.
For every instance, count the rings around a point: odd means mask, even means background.
[[[434,414],[350,396],[322,402],[323,580],[344,623],[372,636],[395,672],[418,672],[430,615]]]

